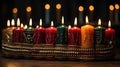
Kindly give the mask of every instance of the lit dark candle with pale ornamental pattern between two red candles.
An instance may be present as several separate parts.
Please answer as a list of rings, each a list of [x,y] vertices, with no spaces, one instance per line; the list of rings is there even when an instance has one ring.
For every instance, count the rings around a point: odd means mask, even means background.
[[[25,29],[25,43],[33,44],[34,28],[32,27],[32,19],[30,18],[29,27]]]

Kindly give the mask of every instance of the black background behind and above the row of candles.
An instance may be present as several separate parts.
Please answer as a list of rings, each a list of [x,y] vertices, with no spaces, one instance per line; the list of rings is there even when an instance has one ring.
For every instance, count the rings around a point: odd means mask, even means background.
[[[7,19],[12,19],[12,9],[14,7],[18,8],[18,17],[20,17],[21,22],[26,23],[26,7],[32,7],[31,17],[33,19],[33,24],[36,25],[39,19],[42,18],[44,22],[44,5],[49,3],[51,5],[51,15],[50,19],[56,22],[55,5],[60,3],[62,5],[61,15],[65,16],[65,22],[67,24],[73,24],[74,17],[78,16],[78,6],[82,5],[85,8],[84,15],[88,14],[88,6],[94,5],[94,19],[96,22],[98,18],[101,18],[103,22],[108,22],[109,20],[109,5],[118,3],[120,0],[0,0],[0,29],[6,28]],[[119,23],[120,24],[120,23]],[[114,25],[113,28],[116,29],[116,45],[119,47],[120,32],[119,24]],[[1,34],[1,33],[0,33]],[[2,34],[1,34],[2,35]],[[0,37],[1,37],[0,35]]]

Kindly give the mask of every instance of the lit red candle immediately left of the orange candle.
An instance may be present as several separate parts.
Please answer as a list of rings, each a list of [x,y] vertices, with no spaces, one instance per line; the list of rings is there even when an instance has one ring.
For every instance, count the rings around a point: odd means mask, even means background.
[[[74,27],[68,29],[68,44],[77,46],[81,43],[81,30],[77,27],[77,18],[74,21]]]

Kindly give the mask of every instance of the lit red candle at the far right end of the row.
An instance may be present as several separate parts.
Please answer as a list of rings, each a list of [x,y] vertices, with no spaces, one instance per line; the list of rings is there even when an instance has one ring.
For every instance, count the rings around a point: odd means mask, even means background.
[[[107,41],[107,44],[113,44],[113,41],[115,40],[115,30],[111,28],[111,22],[108,22],[108,28],[105,29],[105,40]]]

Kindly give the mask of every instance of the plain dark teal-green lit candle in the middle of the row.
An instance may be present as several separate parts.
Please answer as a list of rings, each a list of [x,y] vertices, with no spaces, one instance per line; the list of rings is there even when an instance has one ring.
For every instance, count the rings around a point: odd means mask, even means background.
[[[68,29],[64,25],[64,17],[62,16],[62,25],[57,27],[57,46],[67,45],[68,41]]]

